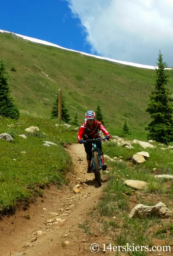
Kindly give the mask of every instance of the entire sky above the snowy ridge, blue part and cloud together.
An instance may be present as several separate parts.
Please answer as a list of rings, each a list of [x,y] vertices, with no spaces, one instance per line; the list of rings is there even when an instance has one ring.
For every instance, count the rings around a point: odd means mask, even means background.
[[[0,0],[0,29],[115,60],[173,67],[173,0]]]

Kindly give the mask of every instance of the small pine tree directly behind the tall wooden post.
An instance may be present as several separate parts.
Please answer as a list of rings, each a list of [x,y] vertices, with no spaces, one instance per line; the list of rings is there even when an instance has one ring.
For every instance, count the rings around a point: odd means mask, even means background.
[[[51,118],[58,118],[58,97],[54,102],[54,107],[52,109]],[[65,107],[65,100],[62,98],[62,109],[61,109],[61,119],[63,122],[69,124],[70,123],[70,116],[68,114],[68,109]]]

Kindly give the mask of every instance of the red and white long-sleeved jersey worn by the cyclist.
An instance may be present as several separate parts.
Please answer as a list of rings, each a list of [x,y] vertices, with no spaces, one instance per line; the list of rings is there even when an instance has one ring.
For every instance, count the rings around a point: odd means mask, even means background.
[[[78,140],[82,140],[83,136],[85,139],[96,139],[99,136],[99,130],[101,130],[105,136],[109,135],[109,132],[105,129],[102,123],[99,121],[94,121],[94,124],[92,127],[89,127],[87,125],[87,121],[83,122],[82,126],[79,129],[79,133],[77,136]]]

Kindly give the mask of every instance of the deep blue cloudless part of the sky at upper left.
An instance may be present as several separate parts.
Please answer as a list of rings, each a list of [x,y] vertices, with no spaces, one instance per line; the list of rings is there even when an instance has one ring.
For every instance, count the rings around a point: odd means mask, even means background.
[[[79,18],[67,1],[0,0],[0,29],[90,53]]]

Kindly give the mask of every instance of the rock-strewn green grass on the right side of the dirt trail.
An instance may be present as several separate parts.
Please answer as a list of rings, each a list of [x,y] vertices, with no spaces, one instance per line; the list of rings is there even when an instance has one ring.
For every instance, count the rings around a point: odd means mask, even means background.
[[[166,244],[172,245],[172,217],[166,222],[159,219],[158,216],[130,219],[129,213],[133,208],[130,209],[132,198],[137,201],[135,201],[135,205],[153,206],[158,202],[162,202],[170,210],[172,209],[173,186],[169,188],[165,186],[167,179],[155,178],[153,168],[157,168],[160,174],[173,174],[173,151],[160,150],[158,143],[155,143],[156,148],[154,149],[143,149],[136,144],[133,144],[133,146],[134,149],[129,150],[118,147],[113,142],[103,144],[103,152],[106,155],[110,157],[122,156],[124,161],[123,163],[118,163],[106,160],[112,169],[107,174],[109,182],[104,189],[104,196],[97,205],[98,217],[103,218],[103,220],[100,220],[103,233],[106,236],[112,236],[112,241],[116,245],[124,245],[128,242],[129,244],[134,243],[151,247],[155,238],[165,240]],[[147,151],[150,157],[143,164],[129,164],[130,161],[126,159],[139,151]],[[127,187],[124,184],[124,180],[142,180],[148,182],[148,186],[140,191],[135,191]],[[95,216],[97,218],[96,214]],[[113,216],[116,218],[116,223],[119,224],[114,229],[110,225]]]

